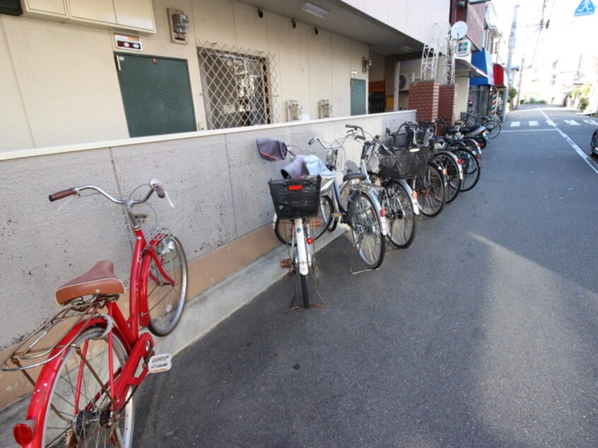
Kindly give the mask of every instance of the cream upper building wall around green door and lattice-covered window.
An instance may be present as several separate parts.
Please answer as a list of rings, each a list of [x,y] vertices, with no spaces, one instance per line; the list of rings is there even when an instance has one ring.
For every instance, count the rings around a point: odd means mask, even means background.
[[[189,16],[188,45],[170,42],[167,8]],[[205,126],[197,47],[216,42],[275,55],[279,117],[299,100],[317,118],[331,100],[335,117],[350,114],[351,70],[358,78],[368,46],[234,0],[153,0],[156,34],[142,35],[142,54],[189,61],[195,116]],[[0,152],[127,138],[115,68],[114,33],[82,25],[0,15]],[[130,33],[135,34],[135,33]],[[120,51],[120,50],[119,50]]]

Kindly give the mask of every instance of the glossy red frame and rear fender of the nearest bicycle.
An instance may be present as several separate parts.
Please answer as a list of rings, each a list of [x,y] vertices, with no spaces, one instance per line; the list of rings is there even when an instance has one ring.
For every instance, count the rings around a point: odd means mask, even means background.
[[[101,190],[98,191],[102,192]],[[74,193],[71,192],[69,194]],[[151,194],[148,194],[143,201],[146,201],[150,195]],[[75,341],[84,331],[96,326],[105,329],[109,353],[112,353],[114,334],[116,334],[127,353],[127,360],[116,372],[114,370],[114,365],[112,364],[112,357],[108,357],[109,379],[106,384],[100,384],[100,389],[103,393],[107,394],[112,403],[112,411],[119,412],[122,410],[132,394],[131,389],[139,386],[149,372],[148,361],[154,353],[155,343],[153,336],[149,332],[141,333],[139,330],[140,326],[146,327],[149,325],[150,310],[148,310],[148,278],[151,276],[151,262],[154,261],[156,269],[158,269],[165,281],[172,285],[176,283],[170,276],[168,276],[168,273],[165,271],[160,261],[159,254],[156,254],[156,247],[165,235],[158,232],[158,234],[153,236],[149,242],[146,240],[146,236],[143,234],[140,226],[136,224],[134,215],[131,213],[132,206],[142,203],[143,201],[134,201],[131,199],[127,201],[115,201],[112,196],[107,194],[105,194],[105,196],[113,202],[126,207],[127,215],[129,216],[131,223],[131,230],[135,235],[135,245],[130,271],[129,317],[124,317],[124,314],[115,300],[116,296],[98,297],[95,304],[99,305],[98,310],[105,307],[106,314],[98,314],[98,312],[95,312],[89,319],[74,324],[61,340],[56,343],[53,348],[49,349],[51,351],[47,357],[48,361],[42,363],[42,369],[40,375],[37,377],[37,381],[34,382],[33,378],[23,370],[25,377],[35,385],[35,390],[30,399],[30,404],[25,417],[26,420],[24,423],[19,424],[28,426],[31,430],[30,435],[33,436],[30,442],[23,444],[23,447],[37,448],[41,446],[44,437],[44,422],[46,421],[46,414],[48,411],[56,412],[60,418],[68,420],[68,417],[61,416],[61,413],[59,413],[56,408],[49,410],[49,396],[52,394],[50,385],[54,384],[54,377],[59,370],[61,362],[63,362],[63,353],[66,350],[69,350],[71,346],[74,346]],[[87,348],[87,345],[83,346],[81,350],[76,348],[78,365],[71,367],[73,372],[72,376],[76,378],[77,382],[76,389],[74,389],[76,408],[78,408],[78,401],[84,393],[81,391],[82,372],[85,367],[91,369],[91,366],[86,359]],[[93,369],[91,370],[94,372]],[[96,379],[99,380],[98,377],[96,377]],[[42,386],[40,387],[40,385]],[[99,394],[100,393],[98,392],[96,399],[99,398]],[[87,398],[89,399],[89,397]]]

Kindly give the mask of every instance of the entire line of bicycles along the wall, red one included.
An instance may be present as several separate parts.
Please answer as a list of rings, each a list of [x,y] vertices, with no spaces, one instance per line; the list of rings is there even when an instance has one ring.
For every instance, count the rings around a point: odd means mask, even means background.
[[[418,216],[437,216],[445,203],[477,184],[479,148],[485,146],[487,131],[457,124],[440,138],[434,131],[441,125],[408,122],[382,137],[347,125],[348,132],[331,143],[318,136],[310,140],[310,146],[317,143],[327,151],[325,161],[300,155],[281,141],[257,141],[267,160],[291,154],[283,179],[269,184],[274,231],[289,252],[281,266],[300,278],[299,307],[319,305],[310,302],[307,276],[317,267],[314,240],[324,232],[338,223],[348,225],[365,269],[377,269],[387,244],[406,248],[414,241]],[[339,183],[339,151],[349,139],[360,143],[360,160]],[[27,415],[13,430],[22,447],[131,446],[134,391],[148,373],[170,369],[171,355],[155,353],[153,336],[170,334],[184,309],[187,259],[174,235],[182,210],[156,179],[141,196],[137,191],[119,198],[82,185],[49,196],[57,201],[98,194],[118,206],[115,216],[127,223],[134,244],[129,317],[117,302],[125,287],[110,261],[100,261],[58,288],[60,311],[0,366],[22,372],[33,385]],[[168,225],[165,215],[170,215]]]

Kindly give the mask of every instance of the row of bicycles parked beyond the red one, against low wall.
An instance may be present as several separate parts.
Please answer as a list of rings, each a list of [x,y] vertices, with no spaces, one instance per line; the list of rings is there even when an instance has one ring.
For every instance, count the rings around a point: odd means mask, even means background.
[[[293,308],[323,305],[321,297],[310,300],[307,283],[307,276],[315,277],[317,271],[317,238],[338,223],[347,225],[365,269],[378,269],[389,244],[404,249],[414,242],[418,216],[438,216],[445,204],[476,186],[489,132],[486,126],[445,126],[442,120],[405,122],[396,131],[386,129],[384,136],[371,136],[352,124],[346,128],[344,136],[330,143],[319,136],[309,141],[327,151],[325,161],[276,139],[256,142],[265,160],[291,155],[291,163],[281,170],[283,179],[271,179],[269,187],[274,232],[288,247],[281,267],[300,279],[300,300],[295,290]],[[435,135],[438,128],[445,135]],[[360,160],[339,184],[339,151],[348,140],[360,142]]]

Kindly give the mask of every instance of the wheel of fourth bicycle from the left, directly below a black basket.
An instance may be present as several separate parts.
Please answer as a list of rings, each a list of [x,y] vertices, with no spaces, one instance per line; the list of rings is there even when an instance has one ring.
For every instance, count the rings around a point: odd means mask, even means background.
[[[406,249],[414,242],[417,233],[417,216],[409,192],[400,182],[391,181],[386,186],[385,204],[388,220],[388,239],[394,247]]]

